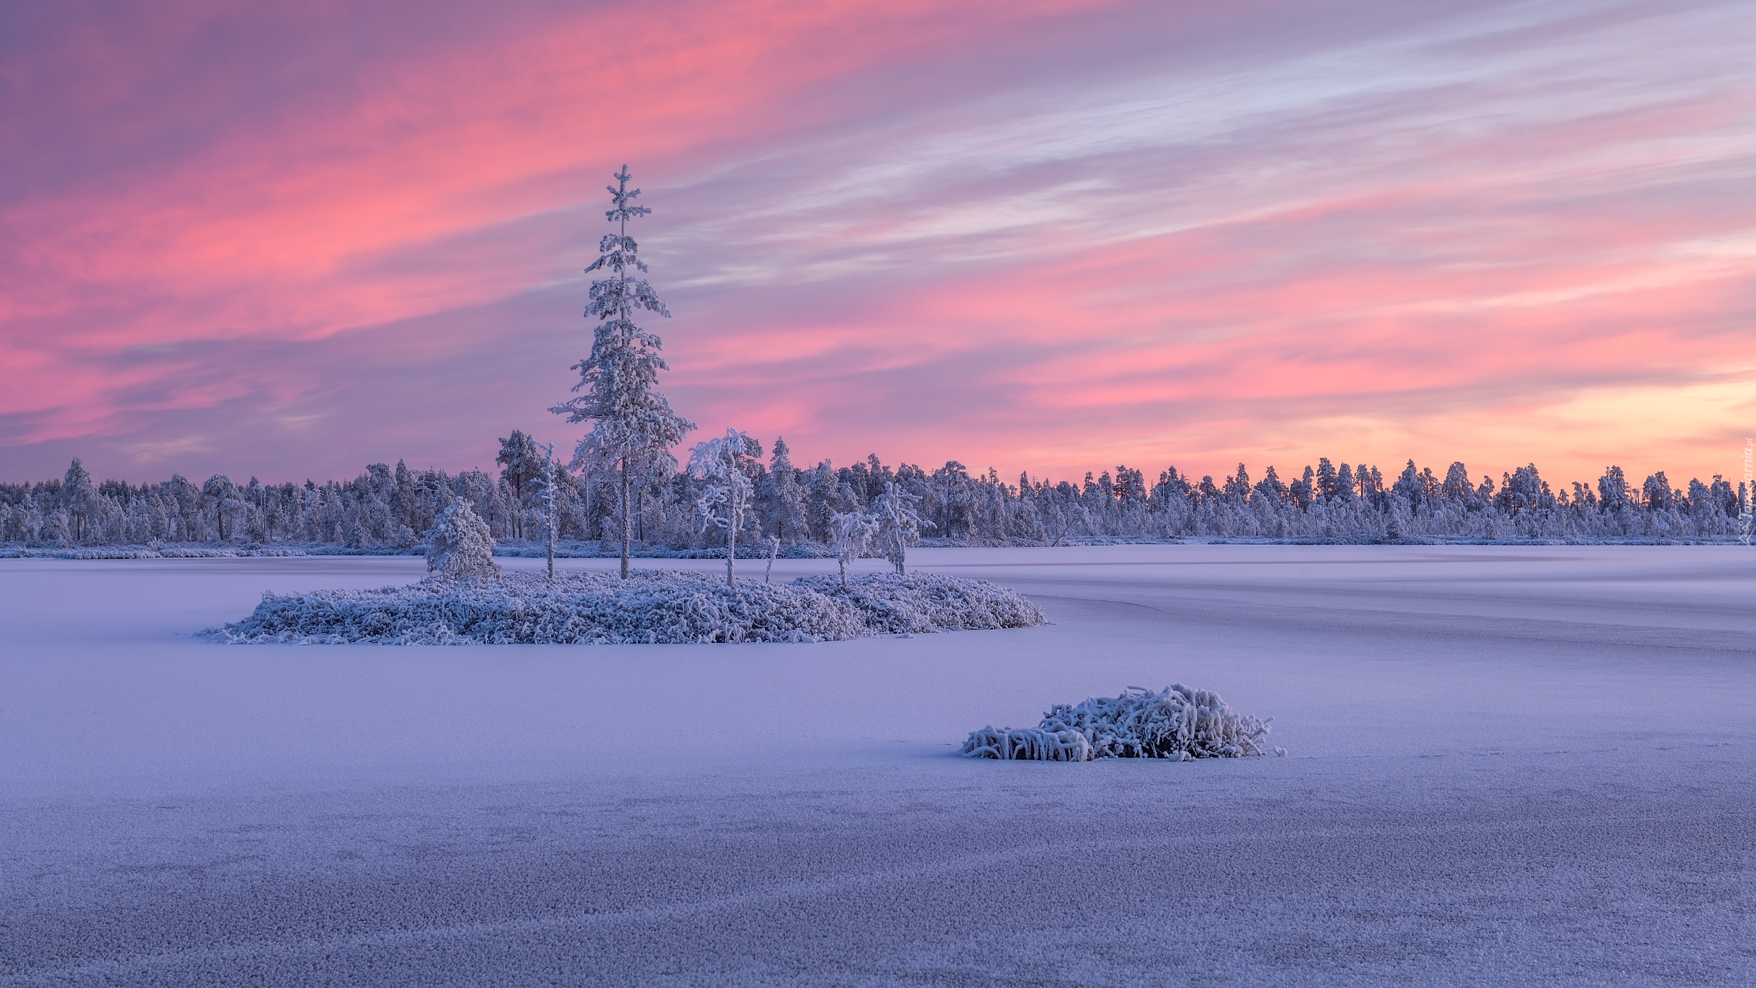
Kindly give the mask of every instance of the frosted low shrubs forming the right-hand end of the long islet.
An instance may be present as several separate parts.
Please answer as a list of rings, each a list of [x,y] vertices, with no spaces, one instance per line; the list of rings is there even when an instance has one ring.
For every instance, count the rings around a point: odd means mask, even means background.
[[[846,585],[834,577],[799,577],[794,584],[853,605],[874,631],[889,635],[1029,628],[1048,621],[1006,587],[939,573],[873,573]]]

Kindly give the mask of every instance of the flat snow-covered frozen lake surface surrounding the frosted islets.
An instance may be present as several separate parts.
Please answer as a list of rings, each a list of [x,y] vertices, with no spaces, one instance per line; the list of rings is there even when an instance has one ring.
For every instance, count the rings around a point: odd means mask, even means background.
[[[0,984],[1756,984],[1756,552],[911,563],[1054,624],[218,645],[421,561],[0,561]],[[1291,756],[952,754],[1169,682]]]

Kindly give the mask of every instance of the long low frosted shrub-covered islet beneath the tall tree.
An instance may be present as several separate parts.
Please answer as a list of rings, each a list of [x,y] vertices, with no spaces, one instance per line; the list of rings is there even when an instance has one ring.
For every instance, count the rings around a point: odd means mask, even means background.
[[[265,594],[255,614],[202,635],[223,642],[378,645],[838,642],[887,633],[1026,628],[1047,619],[985,580],[934,573],[725,585],[718,577],[636,570],[627,580],[421,580],[378,591]]]

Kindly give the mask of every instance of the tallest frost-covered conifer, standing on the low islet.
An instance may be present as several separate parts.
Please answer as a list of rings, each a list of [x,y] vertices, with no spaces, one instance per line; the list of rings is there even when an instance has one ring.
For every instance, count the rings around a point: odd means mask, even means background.
[[[664,341],[641,329],[634,316],[639,311],[669,318],[671,311],[657,292],[639,274],[646,264],[639,246],[629,236],[629,220],[646,216],[651,209],[634,206],[641,190],[629,188],[629,167],[616,172],[609,186],[615,209],[604,213],[616,223],[615,234],[599,243],[599,257],[587,271],[604,271],[609,278],[592,281],[587,318],[597,318],[592,336],[592,355],[572,369],[579,371],[578,394],[550,411],[565,415],[567,422],[592,422],[592,431],[579,440],[572,454],[572,468],[597,476],[615,476],[622,489],[622,577],[629,577],[629,554],[634,543],[634,483],[651,476],[666,476],[676,469],[671,448],[695,427],[671,410],[658,394],[658,371],[671,369],[658,350]],[[636,272],[630,276],[630,272]]]

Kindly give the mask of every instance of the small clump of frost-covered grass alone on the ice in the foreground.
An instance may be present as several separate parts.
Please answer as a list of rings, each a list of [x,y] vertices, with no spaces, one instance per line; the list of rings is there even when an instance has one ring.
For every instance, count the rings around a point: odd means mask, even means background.
[[[1206,689],[1177,684],[1154,693],[1131,686],[1115,698],[1057,703],[1036,728],[969,731],[962,754],[1033,761],[1285,754],[1268,745],[1270,721],[1238,714]]]

